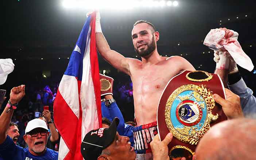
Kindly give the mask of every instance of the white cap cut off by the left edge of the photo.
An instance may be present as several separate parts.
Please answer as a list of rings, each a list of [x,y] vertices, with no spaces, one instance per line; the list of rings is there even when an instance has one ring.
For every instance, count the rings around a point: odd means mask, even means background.
[[[12,73],[14,64],[12,59],[0,59],[0,85],[3,85],[7,79],[7,75]]]

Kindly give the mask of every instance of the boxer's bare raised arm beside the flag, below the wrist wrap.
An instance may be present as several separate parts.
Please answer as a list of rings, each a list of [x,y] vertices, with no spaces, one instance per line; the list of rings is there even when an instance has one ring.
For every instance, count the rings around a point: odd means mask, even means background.
[[[97,45],[98,52],[107,62],[109,62],[116,69],[128,75],[131,75],[129,70],[129,63],[128,63],[129,58],[125,58],[120,53],[117,53],[116,51],[111,50],[105,37],[100,32],[96,33],[96,45]]]

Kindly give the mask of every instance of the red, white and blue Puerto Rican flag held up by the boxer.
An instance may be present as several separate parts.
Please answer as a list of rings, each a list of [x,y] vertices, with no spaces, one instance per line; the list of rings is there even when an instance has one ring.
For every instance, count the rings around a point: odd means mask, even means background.
[[[54,122],[61,134],[58,160],[83,160],[81,142],[101,127],[101,102],[95,17],[85,22],[54,102]]]

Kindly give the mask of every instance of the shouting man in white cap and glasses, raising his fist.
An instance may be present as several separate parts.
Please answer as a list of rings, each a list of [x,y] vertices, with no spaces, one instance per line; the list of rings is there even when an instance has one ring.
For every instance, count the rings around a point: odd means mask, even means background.
[[[14,87],[11,90],[10,99],[0,116],[1,157],[4,160],[57,160],[58,153],[46,148],[49,132],[46,123],[42,119],[33,119],[27,124],[23,138],[28,144],[28,148],[15,145],[13,140],[6,135],[13,112],[24,95],[24,85]]]

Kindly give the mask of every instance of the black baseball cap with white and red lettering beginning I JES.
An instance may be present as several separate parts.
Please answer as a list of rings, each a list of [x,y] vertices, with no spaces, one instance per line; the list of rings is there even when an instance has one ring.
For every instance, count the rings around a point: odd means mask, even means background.
[[[116,137],[119,119],[114,118],[109,128],[92,130],[85,135],[81,144],[81,153],[85,160],[97,160],[103,149],[107,148]]]

